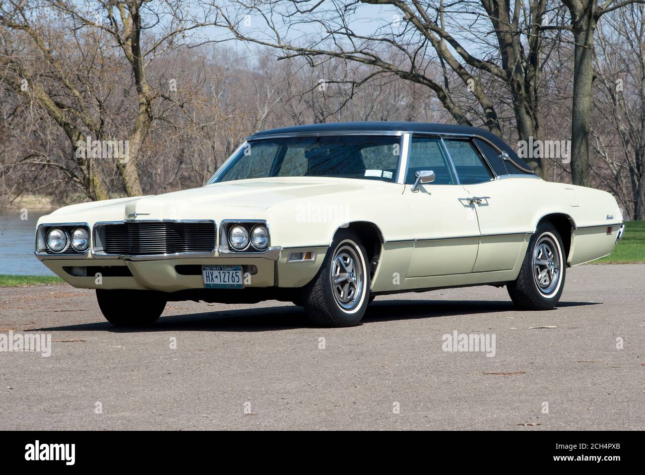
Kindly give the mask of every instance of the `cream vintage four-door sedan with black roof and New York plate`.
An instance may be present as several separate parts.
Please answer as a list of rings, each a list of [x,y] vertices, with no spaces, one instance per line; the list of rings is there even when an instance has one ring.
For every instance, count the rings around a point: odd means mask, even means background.
[[[622,229],[613,196],[543,181],[486,130],[328,123],[258,132],[201,188],[56,210],[35,255],[95,288],[114,325],[154,323],[168,301],[277,299],[345,327],[377,295],[442,287],[551,308],[566,268]]]

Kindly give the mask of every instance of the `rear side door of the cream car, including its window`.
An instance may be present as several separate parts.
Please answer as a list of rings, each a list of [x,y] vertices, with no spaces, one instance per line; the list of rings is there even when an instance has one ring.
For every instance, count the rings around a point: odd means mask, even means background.
[[[481,238],[473,272],[512,269],[526,239],[522,178],[493,179],[485,157],[470,139],[444,139],[444,146],[459,183],[468,197],[475,198],[471,203]]]

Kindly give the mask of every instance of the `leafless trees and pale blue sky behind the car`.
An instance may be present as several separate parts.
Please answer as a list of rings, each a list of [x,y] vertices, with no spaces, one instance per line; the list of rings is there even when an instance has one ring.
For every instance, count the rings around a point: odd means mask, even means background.
[[[483,126],[645,218],[639,1],[0,0],[0,197],[199,186],[255,130]],[[127,141],[128,157],[79,153]]]

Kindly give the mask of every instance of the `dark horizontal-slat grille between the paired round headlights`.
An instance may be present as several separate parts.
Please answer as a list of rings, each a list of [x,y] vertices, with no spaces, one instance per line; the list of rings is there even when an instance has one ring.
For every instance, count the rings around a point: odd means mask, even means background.
[[[179,252],[208,254],[215,250],[215,223],[132,221],[106,224],[103,249],[106,254],[127,256]]]

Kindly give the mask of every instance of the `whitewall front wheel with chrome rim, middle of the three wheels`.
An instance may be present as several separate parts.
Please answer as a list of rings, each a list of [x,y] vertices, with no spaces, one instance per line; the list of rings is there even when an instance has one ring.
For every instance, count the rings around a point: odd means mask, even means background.
[[[358,325],[370,301],[367,252],[355,232],[341,229],[323,265],[303,289],[307,318],[323,327]]]

